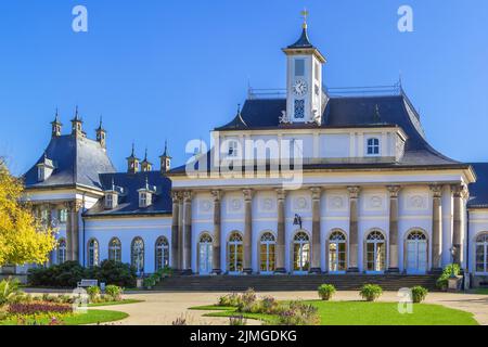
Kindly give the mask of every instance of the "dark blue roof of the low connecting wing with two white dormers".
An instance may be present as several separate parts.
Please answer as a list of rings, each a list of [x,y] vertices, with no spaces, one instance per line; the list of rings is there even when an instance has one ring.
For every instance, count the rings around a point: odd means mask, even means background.
[[[116,172],[101,174],[100,181],[104,191],[112,190],[112,182],[117,188],[123,189],[123,194],[118,196],[118,206],[113,209],[105,209],[104,200],[101,198],[84,216],[130,216],[130,215],[158,215],[171,214],[171,181],[160,171],[146,172]],[[138,190],[146,187],[154,187],[152,204],[145,208],[139,207]]]

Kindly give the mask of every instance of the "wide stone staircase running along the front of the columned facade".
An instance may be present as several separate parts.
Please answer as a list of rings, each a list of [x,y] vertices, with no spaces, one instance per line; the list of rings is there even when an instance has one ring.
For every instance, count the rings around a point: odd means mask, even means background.
[[[307,275],[174,275],[164,279],[154,290],[165,292],[257,292],[317,291],[320,284],[333,284],[338,291],[358,291],[363,284],[378,284],[384,291],[422,285],[437,291],[437,275],[401,274],[307,274]]]

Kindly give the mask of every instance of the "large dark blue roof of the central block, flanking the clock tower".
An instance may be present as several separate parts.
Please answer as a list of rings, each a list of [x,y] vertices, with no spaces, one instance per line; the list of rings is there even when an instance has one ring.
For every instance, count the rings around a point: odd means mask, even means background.
[[[279,119],[286,110],[286,99],[249,99],[242,108],[239,123],[231,123],[215,130],[253,130],[296,128],[351,128],[398,126],[407,134],[404,155],[398,165],[458,165],[434,150],[425,139],[420,117],[403,94],[380,97],[333,97],[322,114],[322,124],[281,125]],[[242,121],[241,121],[242,120]],[[235,127],[235,125],[239,127]],[[172,172],[172,171],[171,171]]]

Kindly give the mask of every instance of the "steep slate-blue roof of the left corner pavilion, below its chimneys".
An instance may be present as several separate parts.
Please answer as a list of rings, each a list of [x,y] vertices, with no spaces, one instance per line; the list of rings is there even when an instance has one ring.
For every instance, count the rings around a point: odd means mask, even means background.
[[[44,154],[53,162],[54,170],[40,182],[37,165],[44,162]],[[26,189],[86,185],[100,190],[99,174],[103,172],[115,172],[115,168],[100,143],[65,134],[51,138],[44,153],[23,178]]]

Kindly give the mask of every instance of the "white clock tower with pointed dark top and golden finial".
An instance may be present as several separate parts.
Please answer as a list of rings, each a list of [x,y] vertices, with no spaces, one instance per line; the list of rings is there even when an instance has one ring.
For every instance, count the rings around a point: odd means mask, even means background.
[[[322,65],[325,57],[310,43],[307,33],[308,12],[301,12],[300,38],[283,49],[287,60],[286,115],[282,123],[320,124],[322,118]],[[284,121],[283,121],[284,120]]]

